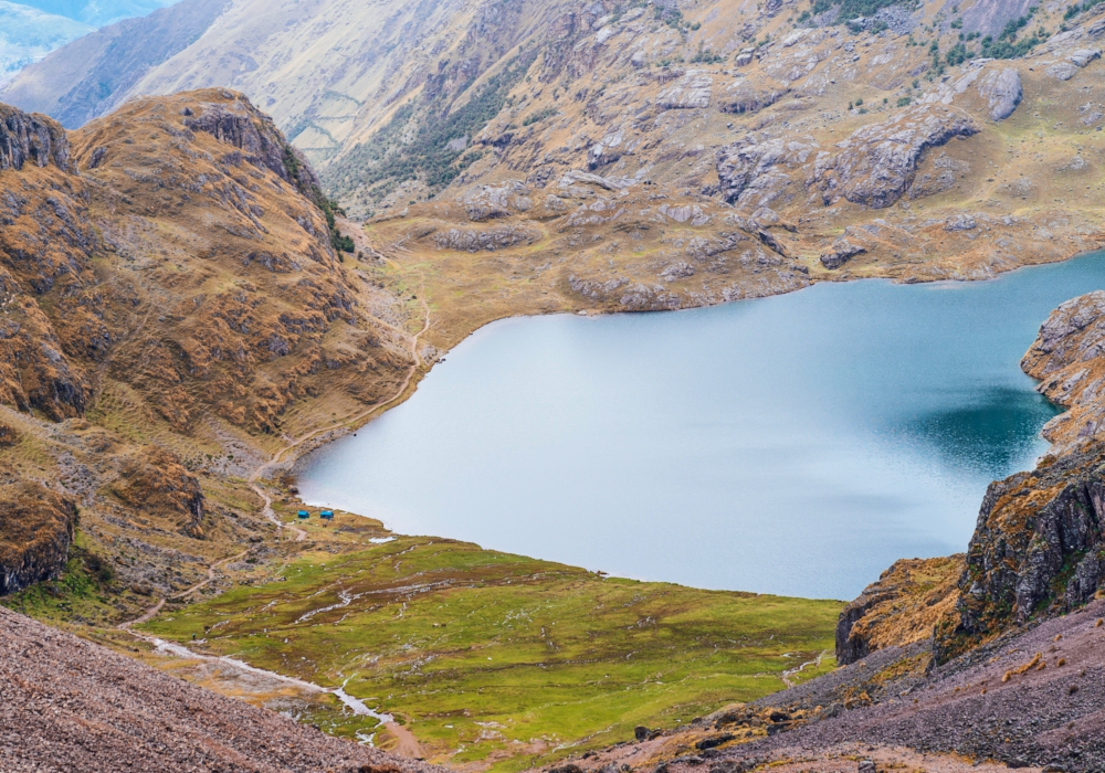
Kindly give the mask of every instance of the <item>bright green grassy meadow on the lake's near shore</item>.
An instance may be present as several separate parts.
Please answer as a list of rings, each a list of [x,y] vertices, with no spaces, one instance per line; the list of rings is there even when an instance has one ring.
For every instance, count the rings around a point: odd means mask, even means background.
[[[145,629],[346,684],[431,758],[513,771],[759,698],[822,654],[828,667],[840,608],[403,537],[303,558]]]

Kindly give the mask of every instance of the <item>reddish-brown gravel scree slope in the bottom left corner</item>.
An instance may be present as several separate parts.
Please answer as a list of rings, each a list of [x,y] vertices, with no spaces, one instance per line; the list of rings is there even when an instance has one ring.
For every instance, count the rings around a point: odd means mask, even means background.
[[[0,770],[431,773],[0,607]]]

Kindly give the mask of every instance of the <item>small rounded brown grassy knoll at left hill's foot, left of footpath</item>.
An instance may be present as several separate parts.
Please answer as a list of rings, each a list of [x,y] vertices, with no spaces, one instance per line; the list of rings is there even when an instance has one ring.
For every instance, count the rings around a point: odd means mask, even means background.
[[[131,454],[113,487],[130,509],[173,518],[189,537],[203,537],[203,491],[194,475],[171,451],[148,445]]]

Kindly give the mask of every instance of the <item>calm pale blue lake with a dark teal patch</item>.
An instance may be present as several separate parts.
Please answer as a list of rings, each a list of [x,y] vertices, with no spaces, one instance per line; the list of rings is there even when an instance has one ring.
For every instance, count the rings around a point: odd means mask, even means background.
[[[822,284],[509,319],[308,457],[307,501],[642,580],[852,599],[961,551],[1055,415],[1018,367],[1105,253],[986,283]]]

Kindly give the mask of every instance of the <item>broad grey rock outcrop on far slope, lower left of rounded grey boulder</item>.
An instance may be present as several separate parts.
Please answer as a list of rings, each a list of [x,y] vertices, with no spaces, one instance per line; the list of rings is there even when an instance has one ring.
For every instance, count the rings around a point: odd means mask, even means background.
[[[840,144],[841,152],[820,153],[807,182],[821,192],[825,204],[844,198],[864,207],[886,208],[913,182],[925,150],[978,131],[978,124],[962,110],[917,105],[856,130]]]

